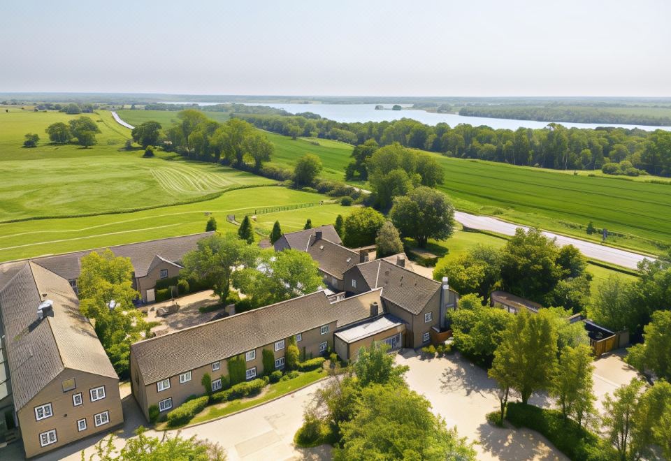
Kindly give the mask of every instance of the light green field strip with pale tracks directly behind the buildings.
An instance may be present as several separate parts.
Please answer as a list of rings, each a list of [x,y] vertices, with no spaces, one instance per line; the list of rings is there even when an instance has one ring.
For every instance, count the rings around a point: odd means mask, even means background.
[[[210,216],[218,229],[235,231],[228,221],[245,214],[257,216],[257,228],[269,233],[275,219],[282,231],[298,231],[307,219],[332,224],[353,207],[319,203],[324,196],[279,186],[254,187],[222,193],[212,200],[122,214],[40,219],[0,224],[0,261],[65,253],[175,235],[203,232]],[[283,210],[282,210],[283,209]]]

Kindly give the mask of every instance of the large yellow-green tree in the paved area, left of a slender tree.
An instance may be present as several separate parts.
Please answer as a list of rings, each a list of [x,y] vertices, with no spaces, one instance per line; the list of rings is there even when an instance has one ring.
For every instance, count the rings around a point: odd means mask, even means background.
[[[503,331],[489,376],[520,393],[527,403],[536,390],[551,388],[557,367],[557,332],[545,316],[521,311]]]

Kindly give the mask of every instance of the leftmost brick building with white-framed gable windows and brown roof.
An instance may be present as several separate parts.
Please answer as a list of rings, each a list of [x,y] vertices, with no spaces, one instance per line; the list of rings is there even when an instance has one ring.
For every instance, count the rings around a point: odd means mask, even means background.
[[[0,438],[27,458],[123,422],[119,378],[67,279],[33,261],[0,271]]]

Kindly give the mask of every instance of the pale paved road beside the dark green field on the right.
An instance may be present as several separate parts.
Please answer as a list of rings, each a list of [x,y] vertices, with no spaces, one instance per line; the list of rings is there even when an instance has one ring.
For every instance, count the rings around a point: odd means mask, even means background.
[[[472,229],[491,231],[504,235],[514,235],[515,229],[518,227],[524,228],[525,230],[528,229],[528,227],[521,226],[520,224],[511,224],[506,221],[500,221],[496,218],[477,216],[475,214],[468,214],[458,211],[454,212],[454,219],[459,221],[464,226],[470,227]],[[600,245],[598,243],[586,242],[585,240],[565,237],[564,235],[557,235],[551,232],[543,232],[543,234],[547,235],[547,237],[556,238],[557,243],[561,246],[573,245],[574,247],[577,247],[577,249],[582,251],[582,254],[588,258],[620,265],[623,268],[636,269],[637,264],[640,261],[643,261],[645,258],[649,258],[649,256],[643,256],[631,251],[606,247],[605,245]]]

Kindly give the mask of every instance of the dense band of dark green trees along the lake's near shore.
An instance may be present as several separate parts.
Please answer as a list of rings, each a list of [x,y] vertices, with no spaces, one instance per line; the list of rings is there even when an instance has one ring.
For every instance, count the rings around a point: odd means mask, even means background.
[[[600,127],[567,129],[551,123],[544,129],[492,129],[446,123],[425,125],[412,119],[392,122],[335,122],[322,117],[236,114],[258,128],[284,136],[316,136],[363,145],[424,149],[446,156],[482,159],[560,170],[593,170],[605,163],[629,161],[651,175],[671,175],[671,132]]]

